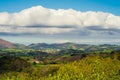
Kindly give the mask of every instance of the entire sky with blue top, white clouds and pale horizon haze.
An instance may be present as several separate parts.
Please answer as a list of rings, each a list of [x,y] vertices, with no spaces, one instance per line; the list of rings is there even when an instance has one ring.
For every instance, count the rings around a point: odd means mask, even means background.
[[[120,44],[120,0],[0,0],[0,38],[22,44]]]

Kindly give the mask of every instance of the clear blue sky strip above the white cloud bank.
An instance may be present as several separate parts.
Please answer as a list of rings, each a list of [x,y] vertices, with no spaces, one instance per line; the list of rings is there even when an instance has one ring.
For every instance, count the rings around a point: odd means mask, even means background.
[[[120,0],[0,0],[0,11],[18,12],[36,5],[54,9],[103,11],[120,15]]]

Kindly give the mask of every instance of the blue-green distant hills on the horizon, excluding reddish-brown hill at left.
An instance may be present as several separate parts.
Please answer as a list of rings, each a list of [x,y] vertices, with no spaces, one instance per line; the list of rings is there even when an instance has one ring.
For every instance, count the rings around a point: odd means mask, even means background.
[[[90,44],[77,44],[77,43],[36,43],[30,44],[28,47],[36,50],[42,49],[79,49],[83,51],[104,51],[104,50],[120,50],[120,46],[111,44],[90,45]]]

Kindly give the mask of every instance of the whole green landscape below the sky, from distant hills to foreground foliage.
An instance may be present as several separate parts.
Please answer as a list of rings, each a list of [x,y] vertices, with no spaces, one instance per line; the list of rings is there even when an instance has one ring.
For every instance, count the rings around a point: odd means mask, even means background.
[[[120,80],[118,45],[0,44],[0,80]]]

